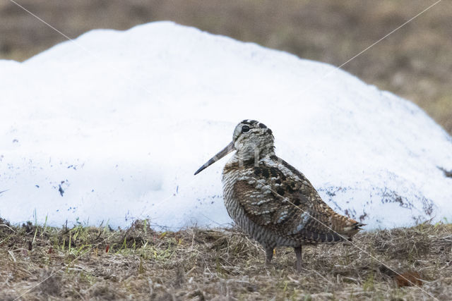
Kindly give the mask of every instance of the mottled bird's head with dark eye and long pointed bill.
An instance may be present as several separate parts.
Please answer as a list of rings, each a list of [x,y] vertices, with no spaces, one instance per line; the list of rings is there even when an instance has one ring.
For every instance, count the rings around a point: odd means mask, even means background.
[[[270,128],[258,121],[245,119],[235,127],[232,142],[215,154],[206,164],[203,164],[195,175],[234,150],[237,150],[236,156],[240,161],[258,160],[264,156],[275,154],[274,141],[275,138]]]

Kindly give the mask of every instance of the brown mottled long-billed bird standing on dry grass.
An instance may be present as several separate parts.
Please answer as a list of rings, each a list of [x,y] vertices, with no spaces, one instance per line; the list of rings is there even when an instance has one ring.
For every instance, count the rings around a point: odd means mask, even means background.
[[[234,129],[232,142],[203,164],[196,174],[234,152],[222,171],[227,213],[266,251],[293,247],[295,268],[302,270],[302,245],[351,240],[364,223],[336,213],[309,180],[275,154],[275,137],[263,123],[246,119]]]

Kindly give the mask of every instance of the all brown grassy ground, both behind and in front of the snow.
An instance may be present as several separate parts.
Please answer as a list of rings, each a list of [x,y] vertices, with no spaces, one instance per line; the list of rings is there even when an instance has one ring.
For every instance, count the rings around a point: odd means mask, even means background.
[[[340,66],[434,1],[15,0],[65,35],[173,20]],[[452,133],[452,1],[343,69],[419,104]],[[0,59],[23,61],[65,38],[0,1]],[[13,226],[0,219],[0,300],[448,300],[452,225],[360,233],[353,244],[275,250],[237,229],[153,231]],[[383,264],[382,264],[383,263]],[[401,274],[402,276],[400,276]],[[412,285],[412,284],[415,285]]]

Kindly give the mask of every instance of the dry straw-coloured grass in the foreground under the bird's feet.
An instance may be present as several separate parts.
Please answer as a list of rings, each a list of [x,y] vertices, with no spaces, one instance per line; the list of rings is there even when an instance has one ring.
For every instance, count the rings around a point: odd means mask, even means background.
[[[295,272],[290,249],[277,249],[273,264],[265,266],[261,247],[237,229],[161,233],[146,221],[118,231],[0,224],[2,300],[422,300],[431,298],[427,293],[447,300],[452,295],[451,224],[362,233],[354,240],[362,250],[347,244],[306,246],[302,274]],[[396,274],[367,253],[407,278],[419,275],[422,285],[399,288]]]

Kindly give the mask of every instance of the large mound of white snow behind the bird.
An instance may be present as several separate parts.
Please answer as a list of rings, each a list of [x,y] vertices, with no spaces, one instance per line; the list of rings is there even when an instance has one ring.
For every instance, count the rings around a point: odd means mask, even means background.
[[[221,171],[243,119],[367,229],[452,221],[452,139],[333,66],[169,22],[93,30],[0,61],[0,216],[52,226],[227,226]],[[59,191],[61,187],[61,192]]]

